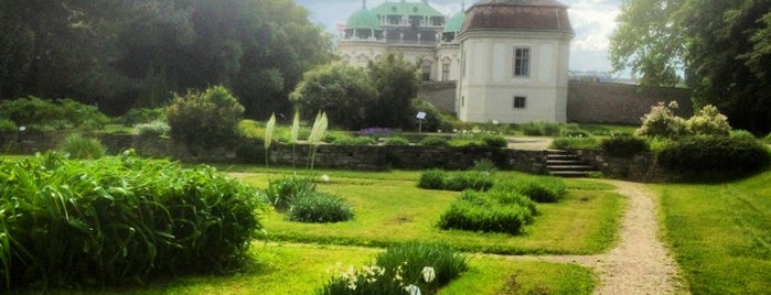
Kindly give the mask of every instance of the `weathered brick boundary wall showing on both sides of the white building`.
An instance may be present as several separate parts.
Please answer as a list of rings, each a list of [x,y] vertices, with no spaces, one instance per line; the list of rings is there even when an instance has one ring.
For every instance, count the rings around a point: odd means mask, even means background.
[[[677,101],[677,116],[690,118],[690,89],[571,80],[568,84],[568,122],[640,124],[640,118],[658,101]],[[424,84],[418,97],[440,110],[456,111],[456,84]]]

